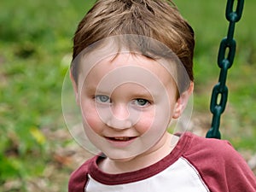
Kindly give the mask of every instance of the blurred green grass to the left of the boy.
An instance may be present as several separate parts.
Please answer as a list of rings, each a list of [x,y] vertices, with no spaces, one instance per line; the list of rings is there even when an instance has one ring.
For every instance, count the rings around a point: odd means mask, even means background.
[[[91,3],[1,2],[0,191],[10,180],[20,181],[19,191],[26,191],[26,182],[42,177],[53,162],[59,143],[49,143],[44,131],[65,129],[62,58],[70,55],[73,32]]]

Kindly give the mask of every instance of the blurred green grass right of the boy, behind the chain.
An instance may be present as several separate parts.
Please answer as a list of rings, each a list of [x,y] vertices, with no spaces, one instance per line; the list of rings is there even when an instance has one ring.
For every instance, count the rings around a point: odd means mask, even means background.
[[[221,39],[227,35],[229,24],[224,17],[226,1],[193,1],[193,4],[189,5],[177,1],[177,6],[195,28],[194,107],[195,111],[206,113],[212,87],[218,82],[218,46]],[[189,11],[186,8],[189,8]],[[237,149],[248,149],[253,153],[256,152],[256,33],[253,26],[255,8],[253,0],[245,1],[243,15],[236,24],[236,57],[229,71],[229,100],[220,126],[224,139],[229,139]]]

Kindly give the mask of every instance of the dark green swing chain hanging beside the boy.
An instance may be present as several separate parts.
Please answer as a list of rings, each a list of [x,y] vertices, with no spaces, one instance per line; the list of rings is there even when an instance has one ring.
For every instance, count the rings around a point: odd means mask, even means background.
[[[230,26],[227,37],[222,39],[218,49],[218,67],[220,67],[221,70],[218,78],[218,84],[216,84],[212,90],[212,99],[210,103],[210,110],[212,112],[212,127],[207,132],[207,138],[220,139],[220,116],[222,113],[224,113],[228,100],[228,87],[226,86],[226,79],[228,69],[232,66],[236,53],[236,41],[234,39],[235,25],[236,22],[241,19],[244,4],[244,0],[237,0],[236,11],[233,11],[234,1],[235,0],[228,0],[226,7],[225,16],[226,19],[230,21]],[[226,51],[228,51],[227,54]]]

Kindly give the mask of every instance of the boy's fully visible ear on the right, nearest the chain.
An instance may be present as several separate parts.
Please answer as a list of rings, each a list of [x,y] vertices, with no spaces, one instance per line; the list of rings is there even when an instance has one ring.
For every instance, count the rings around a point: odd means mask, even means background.
[[[194,82],[190,82],[189,89],[184,91],[181,96],[177,99],[176,106],[174,108],[172,118],[177,119],[181,116],[184,109],[187,107],[187,104],[189,102],[189,96],[193,93],[194,90]]]

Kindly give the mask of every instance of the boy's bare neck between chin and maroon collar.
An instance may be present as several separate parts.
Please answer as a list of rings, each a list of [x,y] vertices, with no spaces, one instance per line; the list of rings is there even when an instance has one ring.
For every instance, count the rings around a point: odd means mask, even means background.
[[[166,157],[166,155],[170,154],[172,149],[176,146],[177,141],[178,137],[166,132],[154,147],[148,149],[148,151],[143,154],[124,160],[111,160],[107,158],[99,163],[99,167],[103,172],[111,174],[137,171],[147,166],[151,166]]]

